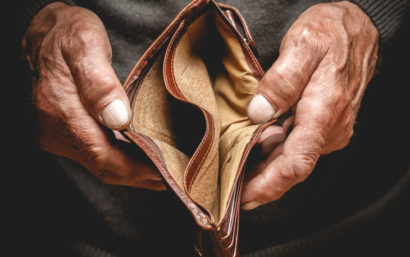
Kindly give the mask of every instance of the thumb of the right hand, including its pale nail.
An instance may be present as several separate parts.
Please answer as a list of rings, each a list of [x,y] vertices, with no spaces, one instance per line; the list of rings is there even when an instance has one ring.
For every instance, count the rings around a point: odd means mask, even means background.
[[[307,30],[291,29],[277,61],[259,83],[248,106],[253,123],[264,123],[286,113],[300,98],[326,51]]]

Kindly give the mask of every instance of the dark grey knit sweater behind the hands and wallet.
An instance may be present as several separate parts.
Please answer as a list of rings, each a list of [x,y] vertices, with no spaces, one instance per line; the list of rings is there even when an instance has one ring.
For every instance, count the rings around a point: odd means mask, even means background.
[[[25,2],[21,8],[22,33],[31,18],[50,2]],[[189,1],[63,2],[88,8],[102,19],[113,49],[114,70],[123,81],[139,56]],[[237,7],[244,15],[266,70],[278,56],[281,39],[292,22],[306,8],[323,1],[222,2]],[[386,52],[394,58],[400,57],[399,50],[408,42],[403,41],[403,27],[408,29],[410,1],[353,2],[379,29],[380,45],[386,46]],[[389,66],[396,64],[389,56],[382,57]],[[405,101],[389,101],[393,103],[387,105],[378,100],[381,96],[393,98],[395,94],[386,93],[386,84],[397,86],[404,78],[399,75],[405,73],[403,67],[384,68],[384,63],[371,83],[375,89],[366,94],[356,136],[349,147],[321,157],[309,179],[279,201],[241,214],[240,246],[244,255],[359,256],[391,250],[388,255],[396,256],[391,253],[397,245],[410,241],[408,235],[403,241],[389,241],[391,236],[385,235],[408,228],[408,223],[403,223],[406,219],[401,204],[408,199],[409,162],[406,152],[395,150],[396,145],[383,135],[391,133],[391,127],[379,124],[379,115],[400,119],[400,110],[408,108]],[[393,133],[405,134],[406,128],[400,126]],[[398,141],[394,135],[391,138]],[[406,145],[406,140],[399,144]],[[374,147],[375,142],[380,150]],[[36,181],[40,184],[35,189],[47,191],[37,193],[41,203],[34,211],[40,218],[33,221],[41,222],[36,228],[47,235],[36,241],[39,256],[191,256],[191,219],[168,192],[105,185],[79,165],[47,154],[40,154],[37,165],[43,179]]]

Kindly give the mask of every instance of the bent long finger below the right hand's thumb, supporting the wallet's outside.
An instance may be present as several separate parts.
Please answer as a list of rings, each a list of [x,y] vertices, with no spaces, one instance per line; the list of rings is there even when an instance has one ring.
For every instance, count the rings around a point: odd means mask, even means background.
[[[250,210],[282,197],[295,184],[305,180],[312,172],[325,143],[325,131],[321,127],[323,108],[313,104],[309,108],[301,102],[310,115],[295,117],[295,126],[283,146],[282,153],[263,172],[245,186],[242,208]],[[298,104],[299,107],[299,104]]]

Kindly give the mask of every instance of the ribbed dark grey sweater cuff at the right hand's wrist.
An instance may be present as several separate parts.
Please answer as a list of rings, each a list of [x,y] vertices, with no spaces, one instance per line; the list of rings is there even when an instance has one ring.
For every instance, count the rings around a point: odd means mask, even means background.
[[[369,15],[380,33],[380,43],[389,41],[404,22],[410,0],[351,0]]]

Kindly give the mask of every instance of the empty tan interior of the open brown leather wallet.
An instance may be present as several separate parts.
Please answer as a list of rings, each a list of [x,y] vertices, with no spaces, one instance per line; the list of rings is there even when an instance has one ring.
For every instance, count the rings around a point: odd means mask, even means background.
[[[157,145],[178,186],[217,224],[258,127],[246,113],[258,81],[234,29],[216,8],[182,23],[179,31],[141,82],[131,127]],[[185,100],[169,90],[166,65]]]

